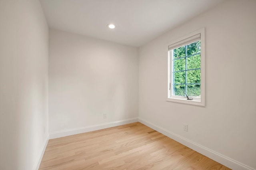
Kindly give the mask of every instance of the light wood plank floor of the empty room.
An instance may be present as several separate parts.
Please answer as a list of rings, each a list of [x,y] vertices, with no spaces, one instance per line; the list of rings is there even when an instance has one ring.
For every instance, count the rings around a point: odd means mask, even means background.
[[[49,140],[40,170],[225,170],[141,123]]]

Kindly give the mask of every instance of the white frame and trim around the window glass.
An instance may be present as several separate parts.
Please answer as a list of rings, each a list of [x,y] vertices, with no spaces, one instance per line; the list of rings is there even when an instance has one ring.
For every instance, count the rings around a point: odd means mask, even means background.
[[[172,95],[172,55],[170,54],[169,46],[173,45],[178,42],[182,42],[186,39],[189,39],[190,37],[196,36],[200,34],[200,41],[201,41],[201,97],[193,97],[193,100],[187,100],[186,97],[182,96],[174,96]],[[185,44],[187,45],[187,44]],[[192,32],[186,36],[183,36],[179,38],[178,40],[172,41],[168,43],[167,46],[168,49],[168,58],[167,58],[167,98],[166,101],[171,102],[178,102],[178,103],[185,103],[190,105],[199,105],[199,106],[205,106],[205,34],[204,34],[204,28],[201,28],[200,30],[197,30],[195,32]]]

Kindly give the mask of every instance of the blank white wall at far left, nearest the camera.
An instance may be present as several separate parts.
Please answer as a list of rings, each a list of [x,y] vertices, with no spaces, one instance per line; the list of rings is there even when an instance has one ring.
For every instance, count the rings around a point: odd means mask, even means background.
[[[47,138],[46,19],[38,0],[0,0],[0,169],[35,169]]]

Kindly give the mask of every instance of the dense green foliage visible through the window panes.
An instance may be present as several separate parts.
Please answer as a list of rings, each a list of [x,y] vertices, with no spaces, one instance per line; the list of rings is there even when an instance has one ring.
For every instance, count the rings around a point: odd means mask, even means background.
[[[186,83],[186,59],[187,69],[198,69],[201,67],[201,55],[196,53],[201,52],[201,42],[194,42],[189,45],[179,47],[173,50],[173,83],[181,84]],[[187,55],[186,55],[187,54]],[[192,55],[190,57],[185,57]],[[184,57],[184,58],[182,58]],[[201,83],[201,70],[187,71],[187,83]],[[178,96],[185,96],[185,85],[174,85],[174,93]],[[200,85],[187,85],[187,94],[191,97],[200,96]]]

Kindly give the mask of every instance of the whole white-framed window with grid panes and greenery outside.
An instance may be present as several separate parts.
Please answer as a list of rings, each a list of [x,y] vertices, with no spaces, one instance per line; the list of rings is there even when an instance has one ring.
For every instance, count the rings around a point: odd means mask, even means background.
[[[168,44],[167,101],[204,106],[204,28]]]

